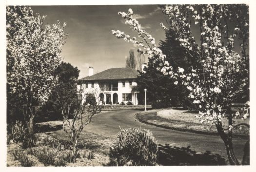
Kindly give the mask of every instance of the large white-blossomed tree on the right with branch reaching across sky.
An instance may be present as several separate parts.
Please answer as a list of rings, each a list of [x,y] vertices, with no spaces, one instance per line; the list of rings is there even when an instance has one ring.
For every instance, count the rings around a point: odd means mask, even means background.
[[[155,57],[160,63],[157,69],[174,78],[174,84],[182,84],[189,90],[189,98],[199,108],[196,116],[200,122],[214,123],[218,134],[224,141],[230,164],[239,162],[233,151],[232,130],[249,125],[234,124],[234,118],[249,117],[249,12],[248,6],[236,5],[163,5],[163,13],[169,18],[169,29],[175,31],[176,39],[184,48],[186,55],[196,61],[196,67],[174,69],[166,56],[157,47],[155,38],[143,30],[138,20],[133,18],[132,9],[128,13],[118,12],[125,24],[137,32],[138,38],[131,38],[119,30],[113,35],[139,46],[138,52]],[[200,42],[192,34],[192,22],[198,25]],[[234,25],[234,30],[230,28]],[[168,28],[160,23],[160,26]],[[236,40],[236,41],[235,41]],[[234,50],[234,44],[240,43],[241,52]],[[157,58],[156,58],[157,57]],[[247,101],[238,112],[231,110],[231,103],[238,98]],[[222,125],[222,119],[228,118],[228,126]],[[249,140],[246,144],[249,145]],[[246,156],[245,156],[246,157]],[[243,160],[243,164],[245,161]]]

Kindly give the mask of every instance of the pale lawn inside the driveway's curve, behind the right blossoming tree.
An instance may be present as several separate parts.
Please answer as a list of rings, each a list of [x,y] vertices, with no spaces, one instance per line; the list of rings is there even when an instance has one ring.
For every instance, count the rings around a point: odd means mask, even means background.
[[[194,111],[168,109],[142,112],[137,114],[137,118],[141,122],[173,130],[217,135],[217,129],[214,124],[200,123],[195,115],[197,113]],[[235,119],[235,124],[241,122],[249,124],[249,119]],[[223,127],[228,126],[228,120],[226,118],[223,118],[222,123]],[[249,129],[247,127],[243,127],[241,130],[234,129],[233,134],[235,136],[247,137],[249,135]]]

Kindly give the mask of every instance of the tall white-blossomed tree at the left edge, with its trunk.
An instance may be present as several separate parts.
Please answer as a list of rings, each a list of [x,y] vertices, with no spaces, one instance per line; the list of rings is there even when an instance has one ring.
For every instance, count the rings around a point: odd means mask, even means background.
[[[7,95],[22,102],[25,123],[33,133],[36,110],[48,99],[57,82],[54,75],[65,42],[58,21],[45,24],[45,16],[34,15],[27,6],[7,6]]]

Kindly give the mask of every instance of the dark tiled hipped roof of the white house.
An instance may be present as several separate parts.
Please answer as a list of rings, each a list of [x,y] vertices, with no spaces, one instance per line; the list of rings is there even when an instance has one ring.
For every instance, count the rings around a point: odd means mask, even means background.
[[[111,79],[134,79],[138,72],[131,68],[112,68],[99,72],[92,76],[86,76],[79,80],[111,80]]]

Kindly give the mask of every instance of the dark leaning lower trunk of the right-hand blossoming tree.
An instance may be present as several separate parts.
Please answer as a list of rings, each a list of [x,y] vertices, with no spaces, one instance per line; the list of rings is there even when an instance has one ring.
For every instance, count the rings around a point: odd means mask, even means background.
[[[216,124],[218,134],[220,135],[221,139],[224,141],[225,148],[227,151],[228,159],[231,165],[240,165],[239,161],[236,158],[236,155],[233,150],[233,143],[232,139],[225,134],[224,130],[222,129],[222,125]]]

